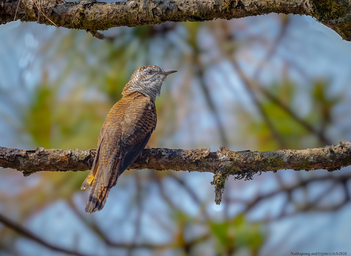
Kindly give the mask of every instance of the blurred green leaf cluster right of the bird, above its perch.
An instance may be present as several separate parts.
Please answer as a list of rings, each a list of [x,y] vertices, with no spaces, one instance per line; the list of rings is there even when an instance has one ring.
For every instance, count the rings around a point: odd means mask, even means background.
[[[284,103],[290,109],[293,109],[294,101],[299,97],[297,85],[292,81],[283,80],[282,83],[274,83],[270,86],[269,91],[273,97]],[[313,124],[316,129],[322,133],[326,127],[332,125],[332,110],[342,100],[341,95],[327,96],[330,84],[323,80],[317,80],[311,85],[310,101],[306,103],[309,111],[305,113],[303,122]],[[304,103],[302,103],[304,104]],[[300,119],[291,116],[284,107],[269,99],[261,100],[263,111],[272,121],[273,127],[277,130],[281,137],[274,138],[271,127],[257,115],[252,118],[252,123],[247,122],[248,126],[243,126],[243,132],[249,131],[249,134],[255,134],[258,138],[258,150],[276,150],[279,148],[279,139],[284,140],[283,144],[287,149],[300,149],[303,147],[324,147],[323,141],[311,133],[300,124]],[[247,120],[249,115],[245,109],[243,110],[241,119]],[[245,124],[245,122],[243,122]],[[247,130],[248,129],[248,130]],[[307,143],[305,143],[307,142]]]

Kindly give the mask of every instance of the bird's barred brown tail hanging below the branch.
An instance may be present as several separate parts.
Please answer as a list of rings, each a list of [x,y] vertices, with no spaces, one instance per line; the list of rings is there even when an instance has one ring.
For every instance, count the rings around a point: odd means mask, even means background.
[[[119,162],[119,161],[118,161]],[[115,166],[114,166],[115,167]],[[100,211],[104,208],[106,203],[106,199],[110,189],[117,183],[118,180],[118,172],[112,171],[110,177],[104,177],[106,172],[100,170],[100,166],[96,172],[96,176],[90,177],[90,175],[86,178],[87,183],[92,180],[92,186],[90,190],[89,200],[85,207],[85,211],[87,213],[93,213],[95,211]],[[83,185],[85,182],[83,183]],[[83,186],[82,185],[82,186]]]

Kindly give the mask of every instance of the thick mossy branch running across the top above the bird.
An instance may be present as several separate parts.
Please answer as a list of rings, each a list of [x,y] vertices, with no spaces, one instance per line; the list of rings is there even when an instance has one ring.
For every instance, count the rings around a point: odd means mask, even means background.
[[[0,24],[13,20],[37,21],[41,13],[39,23],[54,23],[59,27],[87,31],[161,24],[166,21],[229,20],[272,12],[311,15],[335,30],[343,39],[351,40],[351,9],[348,0],[132,0],[111,4],[0,0]]]

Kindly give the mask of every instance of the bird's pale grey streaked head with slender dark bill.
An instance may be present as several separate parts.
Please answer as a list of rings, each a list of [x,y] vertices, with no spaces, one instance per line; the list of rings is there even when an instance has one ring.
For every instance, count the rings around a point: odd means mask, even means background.
[[[164,71],[158,66],[140,67],[134,71],[131,79],[124,86],[122,95],[137,91],[155,101],[156,96],[160,96],[163,81],[174,72],[177,70]]]

